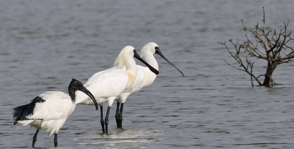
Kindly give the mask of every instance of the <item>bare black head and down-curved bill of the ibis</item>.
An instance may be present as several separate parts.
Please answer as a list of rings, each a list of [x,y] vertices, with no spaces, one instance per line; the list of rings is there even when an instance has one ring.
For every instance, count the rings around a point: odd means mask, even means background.
[[[78,90],[88,95],[93,100],[96,110],[98,110],[97,101],[92,93],[87,88],[85,88],[80,81],[72,79],[71,83],[69,84],[69,96],[71,96],[72,101],[76,100],[76,91]]]

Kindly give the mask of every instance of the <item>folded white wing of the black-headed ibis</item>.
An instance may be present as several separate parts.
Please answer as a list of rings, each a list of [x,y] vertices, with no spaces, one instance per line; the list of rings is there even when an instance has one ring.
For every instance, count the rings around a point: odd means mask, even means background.
[[[73,102],[68,94],[59,91],[49,91],[39,95],[44,102],[35,103],[32,115],[28,119],[57,120],[67,118],[74,110]]]

